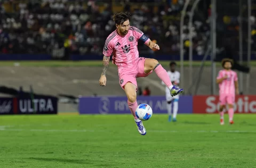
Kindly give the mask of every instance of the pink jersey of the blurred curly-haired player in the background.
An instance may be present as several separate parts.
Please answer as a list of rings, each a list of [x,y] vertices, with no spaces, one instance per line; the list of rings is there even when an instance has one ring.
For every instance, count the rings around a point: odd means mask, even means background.
[[[219,94],[235,94],[235,81],[238,80],[237,73],[232,70],[220,70],[217,79],[221,79],[225,75],[228,75],[228,78],[219,83]]]

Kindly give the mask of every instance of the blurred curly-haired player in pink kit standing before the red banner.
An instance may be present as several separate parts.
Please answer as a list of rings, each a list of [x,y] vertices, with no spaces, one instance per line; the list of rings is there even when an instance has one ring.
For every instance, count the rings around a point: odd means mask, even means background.
[[[233,60],[225,58],[221,62],[223,70],[219,71],[217,77],[217,83],[219,83],[219,94],[220,94],[220,124],[224,124],[224,112],[226,104],[228,104],[228,115],[229,123],[233,124],[233,115],[234,115],[234,103],[235,103],[235,94],[239,93],[238,90],[238,79],[237,73],[231,70]]]

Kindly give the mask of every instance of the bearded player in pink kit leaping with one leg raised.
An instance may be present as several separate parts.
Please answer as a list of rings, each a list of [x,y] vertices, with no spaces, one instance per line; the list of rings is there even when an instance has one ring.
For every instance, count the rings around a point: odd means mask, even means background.
[[[118,68],[119,84],[125,91],[127,103],[134,116],[138,131],[141,135],[146,135],[145,127],[135,115],[138,106],[136,78],[147,77],[154,70],[170,89],[172,96],[182,93],[183,89],[172,85],[169,75],[157,60],[139,57],[138,40],[142,40],[151,49],[159,49],[159,46],[146,37],[141,30],[130,26],[130,13],[117,13],[113,18],[116,23],[116,30],[108,36],[103,47],[103,71],[99,84],[106,86],[106,70],[110,55],[113,54],[112,62]]]

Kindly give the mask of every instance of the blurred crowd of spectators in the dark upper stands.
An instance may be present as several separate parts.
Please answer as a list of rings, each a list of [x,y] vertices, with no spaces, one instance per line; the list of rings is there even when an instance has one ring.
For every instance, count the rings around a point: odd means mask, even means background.
[[[180,15],[185,0],[25,0],[2,1],[0,5],[0,53],[12,54],[102,54],[109,33],[115,30],[116,11],[130,11],[131,25],[156,40],[159,54],[179,54]],[[191,4],[188,11],[191,9]],[[189,14],[189,12],[188,12]],[[221,15],[218,27],[236,28],[236,16]],[[210,38],[210,1],[198,4],[193,19],[193,51],[203,55]],[[252,20],[255,18],[251,18]],[[226,24],[226,25],[225,25]],[[221,27],[222,26],[222,27]],[[188,53],[188,15],[183,26]],[[238,30],[236,36],[238,35]],[[220,33],[221,34],[221,33]],[[255,32],[256,34],[256,32]],[[220,37],[221,38],[221,37]],[[139,43],[141,53],[152,51]]]

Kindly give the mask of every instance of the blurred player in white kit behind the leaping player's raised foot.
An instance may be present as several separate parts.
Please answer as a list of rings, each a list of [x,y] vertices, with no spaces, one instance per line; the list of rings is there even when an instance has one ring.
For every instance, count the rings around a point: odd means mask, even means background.
[[[170,63],[170,70],[167,71],[169,78],[171,79],[173,85],[177,86],[179,88],[179,83],[180,83],[180,72],[175,71],[175,62]],[[162,81],[162,84],[164,85],[164,82]],[[166,102],[167,102],[167,112],[169,114],[169,119],[168,121],[175,122],[177,121],[177,113],[178,113],[178,101],[179,101],[179,95],[177,96],[171,96],[170,94],[170,89],[165,88],[165,96],[166,96]],[[172,104],[173,104],[173,110],[172,110]],[[173,112],[173,117],[172,117],[172,112]]]

